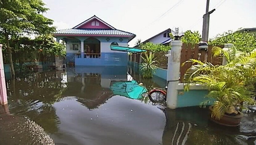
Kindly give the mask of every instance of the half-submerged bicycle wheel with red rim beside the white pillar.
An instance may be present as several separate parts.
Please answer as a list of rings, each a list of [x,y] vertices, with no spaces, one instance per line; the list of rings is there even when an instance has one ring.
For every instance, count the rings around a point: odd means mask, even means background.
[[[152,90],[148,93],[148,97],[153,103],[159,103],[166,100],[166,92],[162,90]]]

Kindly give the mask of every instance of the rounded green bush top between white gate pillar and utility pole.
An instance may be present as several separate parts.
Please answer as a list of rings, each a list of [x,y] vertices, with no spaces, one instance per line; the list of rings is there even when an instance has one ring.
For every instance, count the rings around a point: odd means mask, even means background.
[[[187,43],[187,44],[188,43],[198,44],[200,42],[200,40],[201,40],[201,35],[198,31],[192,32],[192,31],[188,30],[184,33],[184,36],[181,37],[181,41],[183,43]]]

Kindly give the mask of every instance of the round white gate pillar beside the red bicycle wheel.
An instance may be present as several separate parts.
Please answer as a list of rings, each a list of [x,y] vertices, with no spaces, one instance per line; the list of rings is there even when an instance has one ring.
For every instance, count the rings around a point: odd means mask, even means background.
[[[167,69],[167,98],[168,108],[175,109],[177,106],[178,91],[176,87],[180,78],[180,54],[182,41],[171,41],[171,50],[168,51],[168,69]]]

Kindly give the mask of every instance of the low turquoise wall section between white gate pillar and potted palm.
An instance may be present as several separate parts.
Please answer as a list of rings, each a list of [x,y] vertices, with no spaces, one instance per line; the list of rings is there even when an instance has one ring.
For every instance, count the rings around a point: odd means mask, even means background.
[[[178,92],[181,93],[184,90],[178,90]],[[177,108],[199,106],[201,102],[209,100],[209,98],[205,98],[207,94],[208,90],[189,90],[188,92],[184,92],[184,95],[178,95]],[[211,99],[208,105],[212,105],[213,103],[214,100]]]

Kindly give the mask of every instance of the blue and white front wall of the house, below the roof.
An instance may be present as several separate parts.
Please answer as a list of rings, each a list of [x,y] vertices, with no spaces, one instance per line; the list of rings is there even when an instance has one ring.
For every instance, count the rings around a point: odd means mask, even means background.
[[[74,54],[81,52],[81,41],[88,42],[90,37],[74,37],[76,39],[64,38],[66,41],[66,61],[73,59]],[[126,37],[93,37],[100,41],[101,57],[100,58],[82,58],[75,57],[74,62],[76,66],[126,66],[128,63],[127,52],[113,51],[110,49],[112,42],[117,42],[119,46],[128,46],[128,38]],[[58,37],[57,37],[58,39]],[[60,37],[59,37],[60,39]],[[70,45],[78,44],[78,50],[71,50]],[[82,56],[82,55],[81,55]]]

